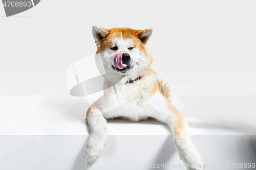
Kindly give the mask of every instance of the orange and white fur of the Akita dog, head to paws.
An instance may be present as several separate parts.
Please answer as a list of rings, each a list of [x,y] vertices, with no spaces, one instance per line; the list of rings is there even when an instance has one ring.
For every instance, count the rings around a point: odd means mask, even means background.
[[[87,123],[91,132],[84,150],[84,158],[88,165],[98,160],[108,138],[106,119],[123,117],[139,121],[153,117],[169,127],[183,162],[197,165],[187,169],[203,169],[203,160],[187,132],[188,124],[168,99],[169,87],[159,81],[156,72],[151,69],[153,58],[145,45],[152,32],[153,29],[93,27],[93,37],[97,45],[96,54],[100,54],[98,57],[101,57],[101,59],[97,58],[96,55],[96,64],[99,62],[104,64],[104,67],[98,67],[101,74],[104,74],[104,71],[112,73],[108,78],[115,84],[115,89],[104,90],[104,95],[87,111]],[[129,61],[123,61],[128,65],[124,69],[119,69],[114,64],[114,57],[120,52],[130,56],[126,58]],[[120,76],[121,81],[117,79]]]

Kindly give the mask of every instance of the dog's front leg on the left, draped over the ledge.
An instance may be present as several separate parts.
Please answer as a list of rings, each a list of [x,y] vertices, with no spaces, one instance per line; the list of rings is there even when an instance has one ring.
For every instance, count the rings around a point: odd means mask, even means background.
[[[90,127],[90,136],[86,148],[84,148],[84,158],[88,165],[94,164],[104,147],[106,138],[108,138],[108,127],[106,119],[101,110],[94,103],[87,111],[87,123]]]

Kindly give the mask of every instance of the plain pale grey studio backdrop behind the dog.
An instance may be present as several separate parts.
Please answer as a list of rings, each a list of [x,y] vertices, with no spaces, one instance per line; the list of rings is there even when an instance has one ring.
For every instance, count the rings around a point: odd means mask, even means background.
[[[47,1],[0,5],[0,95],[69,95],[65,70],[96,52],[92,26],[153,28],[158,77],[189,95],[256,95],[255,1]]]

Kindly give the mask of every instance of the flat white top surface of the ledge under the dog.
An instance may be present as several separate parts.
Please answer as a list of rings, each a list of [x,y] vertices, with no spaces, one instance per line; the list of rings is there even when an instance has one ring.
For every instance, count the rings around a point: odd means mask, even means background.
[[[172,100],[192,135],[255,135],[255,96],[187,96]],[[68,95],[0,96],[0,135],[88,135],[88,102]],[[110,135],[170,135],[155,119],[108,120]]]

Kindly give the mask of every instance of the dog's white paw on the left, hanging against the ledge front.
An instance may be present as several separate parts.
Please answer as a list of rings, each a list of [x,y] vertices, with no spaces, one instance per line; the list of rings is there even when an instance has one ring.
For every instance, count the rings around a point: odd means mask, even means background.
[[[100,152],[96,151],[95,148],[93,148],[92,145],[87,143],[86,148],[84,149],[84,159],[87,163],[87,165],[94,164],[100,156]]]

